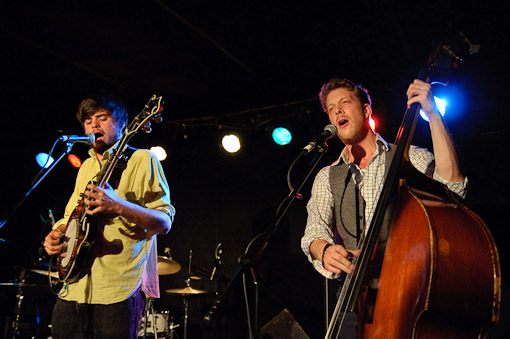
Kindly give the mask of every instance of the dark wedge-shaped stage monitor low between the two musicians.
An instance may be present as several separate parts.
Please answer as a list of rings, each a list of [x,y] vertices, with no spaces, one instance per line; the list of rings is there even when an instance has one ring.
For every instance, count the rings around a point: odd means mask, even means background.
[[[310,339],[285,308],[260,330],[260,339]]]

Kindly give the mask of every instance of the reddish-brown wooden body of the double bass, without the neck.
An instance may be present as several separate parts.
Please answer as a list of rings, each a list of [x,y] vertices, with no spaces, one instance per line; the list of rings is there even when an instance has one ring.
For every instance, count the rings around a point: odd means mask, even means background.
[[[494,239],[442,186],[439,194],[400,186],[376,281],[360,295],[361,338],[484,338],[498,321]]]

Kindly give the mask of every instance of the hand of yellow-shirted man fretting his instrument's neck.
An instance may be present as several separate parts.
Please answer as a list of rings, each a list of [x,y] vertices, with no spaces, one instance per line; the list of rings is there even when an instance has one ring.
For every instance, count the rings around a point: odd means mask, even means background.
[[[87,205],[86,212],[89,215],[98,213],[120,214],[123,200],[115,193],[110,184],[104,187],[88,184],[85,191],[84,203]]]

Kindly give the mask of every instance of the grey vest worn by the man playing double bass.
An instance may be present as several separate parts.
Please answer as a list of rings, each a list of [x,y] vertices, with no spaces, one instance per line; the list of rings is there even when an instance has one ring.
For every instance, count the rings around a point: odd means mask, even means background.
[[[390,149],[386,153],[384,177],[388,174],[396,148],[393,144],[388,146]],[[356,184],[351,180],[349,166],[343,161],[330,167],[329,184],[334,199],[335,243],[349,250],[355,250],[365,230],[365,201]]]

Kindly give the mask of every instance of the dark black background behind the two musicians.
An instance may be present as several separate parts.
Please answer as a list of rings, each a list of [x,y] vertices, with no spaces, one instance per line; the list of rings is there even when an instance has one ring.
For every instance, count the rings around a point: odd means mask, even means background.
[[[163,167],[177,215],[170,233],[158,237],[158,252],[170,248],[182,269],[162,276],[161,290],[184,287],[190,251],[191,274],[202,277],[193,286],[213,290],[206,280],[220,242],[222,290],[250,239],[272,224],[289,192],[290,164],[328,123],[316,100],[322,84],[331,77],[362,83],[372,95],[378,132],[393,141],[408,84],[435,44],[463,32],[481,48],[452,77],[448,87],[457,92],[456,104],[445,120],[470,180],[467,203],[498,244],[505,292],[509,7],[500,1],[3,1],[0,214],[9,222],[0,230],[1,282],[16,281],[18,268],[37,258],[38,235],[48,231],[40,215],[46,218],[48,208],[57,218],[62,215],[77,172],[67,160],[9,213],[39,170],[35,154],[49,151],[61,134],[82,133],[74,114],[89,92],[119,95],[131,118],[153,93],[164,97],[163,124],[131,143],[162,145],[168,153]],[[270,140],[275,124],[292,130],[289,145]],[[221,149],[227,131],[240,135],[240,153]],[[421,121],[413,143],[430,147],[428,139]],[[329,146],[319,167],[342,147],[336,140]],[[84,159],[86,149],[76,145],[73,152]],[[298,163],[294,184],[310,160]],[[310,185],[289,209],[257,269],[259,325],[287,308],[316,338],[322,336],[323,280],[300,249]],[[46,277],[31,274],[27,282],[36,286],[24,290],[21,337],[45,337],[55,297]],[[220,315],[221,337],[247,337],[240,287]],[[15,292],[0,287],[2,325],[12,317]],[[202,316],[214,300],[191,300],[193,337],[207,333]],[[182,330],[180,297],[164,295],[156,308],[170,311]],[[505,301],[501,316],[493,338],[510,333]]]

